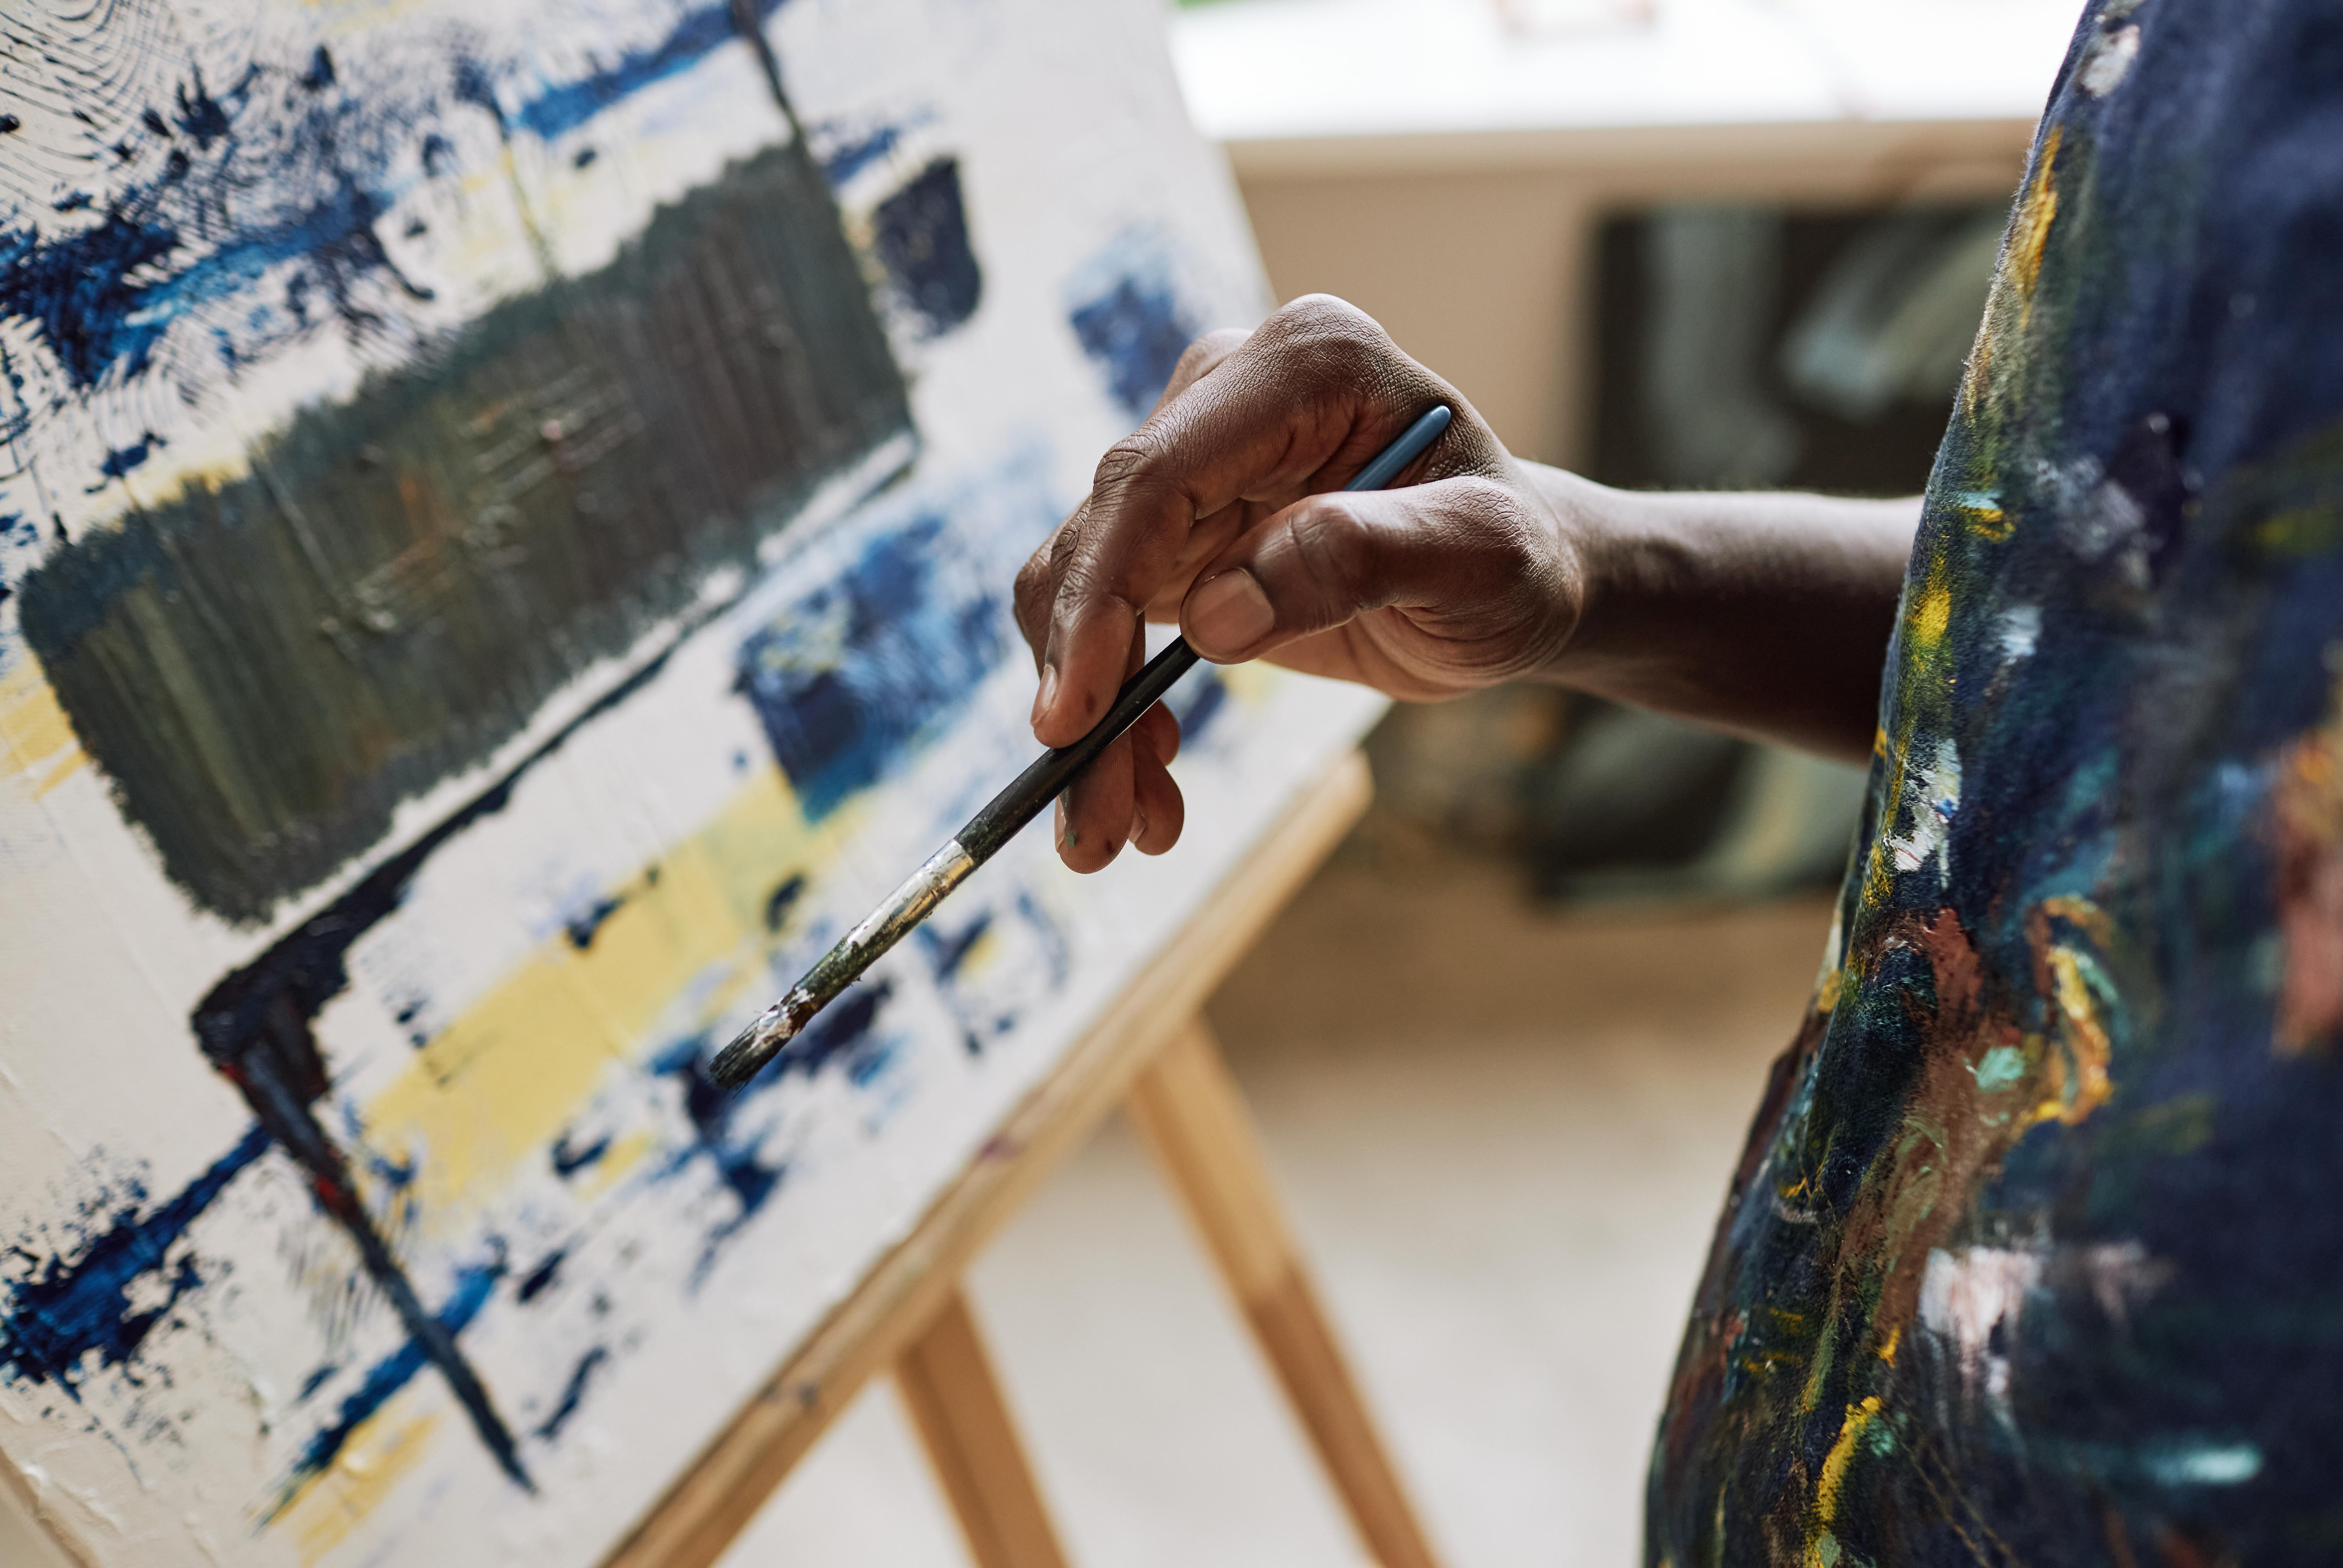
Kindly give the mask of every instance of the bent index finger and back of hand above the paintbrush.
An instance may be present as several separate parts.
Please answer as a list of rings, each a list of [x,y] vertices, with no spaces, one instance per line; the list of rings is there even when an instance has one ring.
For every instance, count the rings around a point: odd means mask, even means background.
[[[1089,499],[1029,567],[1019,623],[1038,642],[1033,734],[1068,745],[1106,713],[1129,626],[1197,560],[1268,516],[1357,473],[1410,420],[1462,398],[1340,300],[1298,300],[1239,342],[1204,345],[1200,373],[1099,462]],[[1422,473],[1485,469],[1504,450],[1460,417]],[[1462,464],[1462,466],[1460,466]]]

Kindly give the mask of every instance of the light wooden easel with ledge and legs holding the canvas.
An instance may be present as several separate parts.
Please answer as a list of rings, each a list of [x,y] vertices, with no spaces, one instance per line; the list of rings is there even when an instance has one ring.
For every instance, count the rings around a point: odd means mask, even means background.
[[[715,1563],[829,1420],[886,1366],[895,1369],[979,1568],[1064,1568],[1066,1554],[961,1296],[961,1275],[1118,1104],[1186,1202],[1368,1554],[1382,1568],[1434,1568],[1317,1305],[1254,1123],[1200,1015],[1221,977],[1366,809],[1368,788],[1366,762],[1350,755],[1300,797],[604,1568]]]

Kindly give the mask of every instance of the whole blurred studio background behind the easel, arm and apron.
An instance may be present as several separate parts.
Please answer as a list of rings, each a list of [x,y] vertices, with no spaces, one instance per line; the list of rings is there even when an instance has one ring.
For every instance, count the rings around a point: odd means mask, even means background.
[[[1279,300],[1378,316],[1525,457],[1910,495],[2069,0],[1200,0]],[[1378,802],[1211,1008],[1460,1568],[1640,1561],[1692,1284],[1860,773],[1542,689],[1396,708]],[[975,1275],[1080,1563],[1359,1563],[1120,1125]],[[888,1395],[729,1563],[958,1563]]]

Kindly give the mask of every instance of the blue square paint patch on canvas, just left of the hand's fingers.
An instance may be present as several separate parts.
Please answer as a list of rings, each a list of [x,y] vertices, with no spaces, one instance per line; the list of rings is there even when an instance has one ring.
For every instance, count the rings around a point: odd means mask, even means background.
[[[876,539],[740,647],[736,689],[757,708],[806,820],[886,773],[1000,661],[996,595],[935,591],[942,516]],[[822,628],[846,621],[832,647]]]

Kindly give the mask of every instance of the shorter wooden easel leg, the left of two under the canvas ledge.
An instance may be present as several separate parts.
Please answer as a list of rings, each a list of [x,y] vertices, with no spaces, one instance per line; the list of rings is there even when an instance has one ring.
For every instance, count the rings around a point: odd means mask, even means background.
[[[961,1291],[895,1362],[895,1388],[977,1568],[1066,1568]]]

